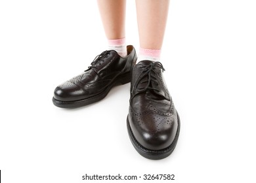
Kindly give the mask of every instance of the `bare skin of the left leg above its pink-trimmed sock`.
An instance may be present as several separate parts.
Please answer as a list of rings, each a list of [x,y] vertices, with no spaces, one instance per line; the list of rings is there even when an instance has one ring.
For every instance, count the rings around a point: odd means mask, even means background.
[[[108,39],[125,37],[126,0],[98,0],[98,9]]]

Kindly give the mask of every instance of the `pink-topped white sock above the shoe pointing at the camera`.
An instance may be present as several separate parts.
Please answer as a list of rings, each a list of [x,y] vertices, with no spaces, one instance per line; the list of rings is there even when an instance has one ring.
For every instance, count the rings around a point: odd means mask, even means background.
[[[140,48],[137,63],[145,59],[150,61],[160,61],[160,55],[161,55],[161,50],[150,50],[150,49]]]

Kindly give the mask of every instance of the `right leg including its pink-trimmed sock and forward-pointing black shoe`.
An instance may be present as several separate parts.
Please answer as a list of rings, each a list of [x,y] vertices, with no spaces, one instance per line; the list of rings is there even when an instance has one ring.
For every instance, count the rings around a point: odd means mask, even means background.
[[[169,156],[177,144],[180,120],[163,82],[159,62],[168,0],[136,0],[140,36],[139,63],[133,67],[127,118],[128,134],[145,158]]]

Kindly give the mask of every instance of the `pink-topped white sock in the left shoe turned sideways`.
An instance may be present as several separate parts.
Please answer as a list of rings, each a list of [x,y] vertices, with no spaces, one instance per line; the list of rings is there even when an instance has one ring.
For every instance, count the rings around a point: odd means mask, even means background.
[[[108,50],[115,50],[121,57],[127,56],[125,37],[123,39],[108,39]]]

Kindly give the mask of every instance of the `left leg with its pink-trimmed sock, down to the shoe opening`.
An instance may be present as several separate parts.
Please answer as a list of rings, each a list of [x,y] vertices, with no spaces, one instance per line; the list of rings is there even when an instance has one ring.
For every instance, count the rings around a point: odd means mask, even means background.
[[[126,56],[125,44],[125,0],[98,0],[98,9],[106,37],[108,49]]]

